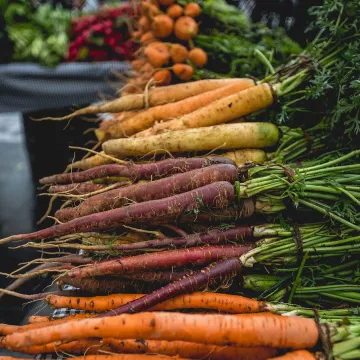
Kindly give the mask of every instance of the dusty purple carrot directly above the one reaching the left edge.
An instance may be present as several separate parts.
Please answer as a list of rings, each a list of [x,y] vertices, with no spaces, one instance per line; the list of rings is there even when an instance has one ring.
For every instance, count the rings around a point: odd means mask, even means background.
[[[148,183],[138,183],[110,190],[88,198],[79,206],[58,210],[55,217],[61,222],[67,222],[93,213],[116,209],[129,204],[129,202],[139,203],[164,199],[217,181],[234,183],[236,179],[236,166],[212,165]]]

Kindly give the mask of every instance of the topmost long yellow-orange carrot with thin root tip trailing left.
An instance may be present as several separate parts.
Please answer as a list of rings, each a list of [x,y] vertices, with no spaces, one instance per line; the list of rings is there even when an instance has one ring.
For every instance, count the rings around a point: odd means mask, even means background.
[[[254,86],[254,82],[250,79],[216,79],[193,81],[188,84],[171,85],[168,86],[166,89],[151,89],[147,93],[147,103],[145,102],[144,95],[127,95],[122,96],[119,99],[104,103],[102,105],[87,106],[61,118],[42,118],[37,120],[67,120],[79,115],[97,113],[119,113],[128,110],[140,110],[143,109],[146,105],[153,107],[157,105],[176,102],[234,83],[244,84],[243,89]]]

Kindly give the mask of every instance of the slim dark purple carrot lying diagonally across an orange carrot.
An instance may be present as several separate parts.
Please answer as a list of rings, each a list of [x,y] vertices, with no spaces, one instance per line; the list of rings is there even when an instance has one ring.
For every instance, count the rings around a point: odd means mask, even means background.
[[[199,291],[200,289],[208,286],[209,283],[215,279],[225,281],[235,276],[240,270],[241,263],[239,258],[221,260],[195,272],[193,275],[174,281],[158,290],[153,291],[151,294],[144,295],[137,300],[130,301],[117,309],[105,312],[98,317],[145,311],[175,296]]]

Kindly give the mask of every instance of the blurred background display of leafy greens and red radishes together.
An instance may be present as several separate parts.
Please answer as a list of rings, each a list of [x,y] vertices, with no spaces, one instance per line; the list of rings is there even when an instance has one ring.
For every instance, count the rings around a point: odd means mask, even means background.
[[[78,13],[50,3],[28,0],[2,1],[5,31],[13,43],[13,61],[54,67],[64,61],[131,60],[136,44],[131,40],[137,18],[135,4]]]

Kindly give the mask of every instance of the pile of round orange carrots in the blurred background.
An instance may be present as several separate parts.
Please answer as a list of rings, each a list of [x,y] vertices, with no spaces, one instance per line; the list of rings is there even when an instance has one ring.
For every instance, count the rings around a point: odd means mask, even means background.
[[[133,38],[141,44],[137,58],[131,62],[136,76],[129,79],[125,93],[141,93],[149,82],[164,86],[174,81],[189,81],[193,67],[207,63],[205,51],[194,46],[198,33],[197,3],[185,7],[175,1],[142,1],[142,16]],[[173,79],[175,76],[175,79]]]

